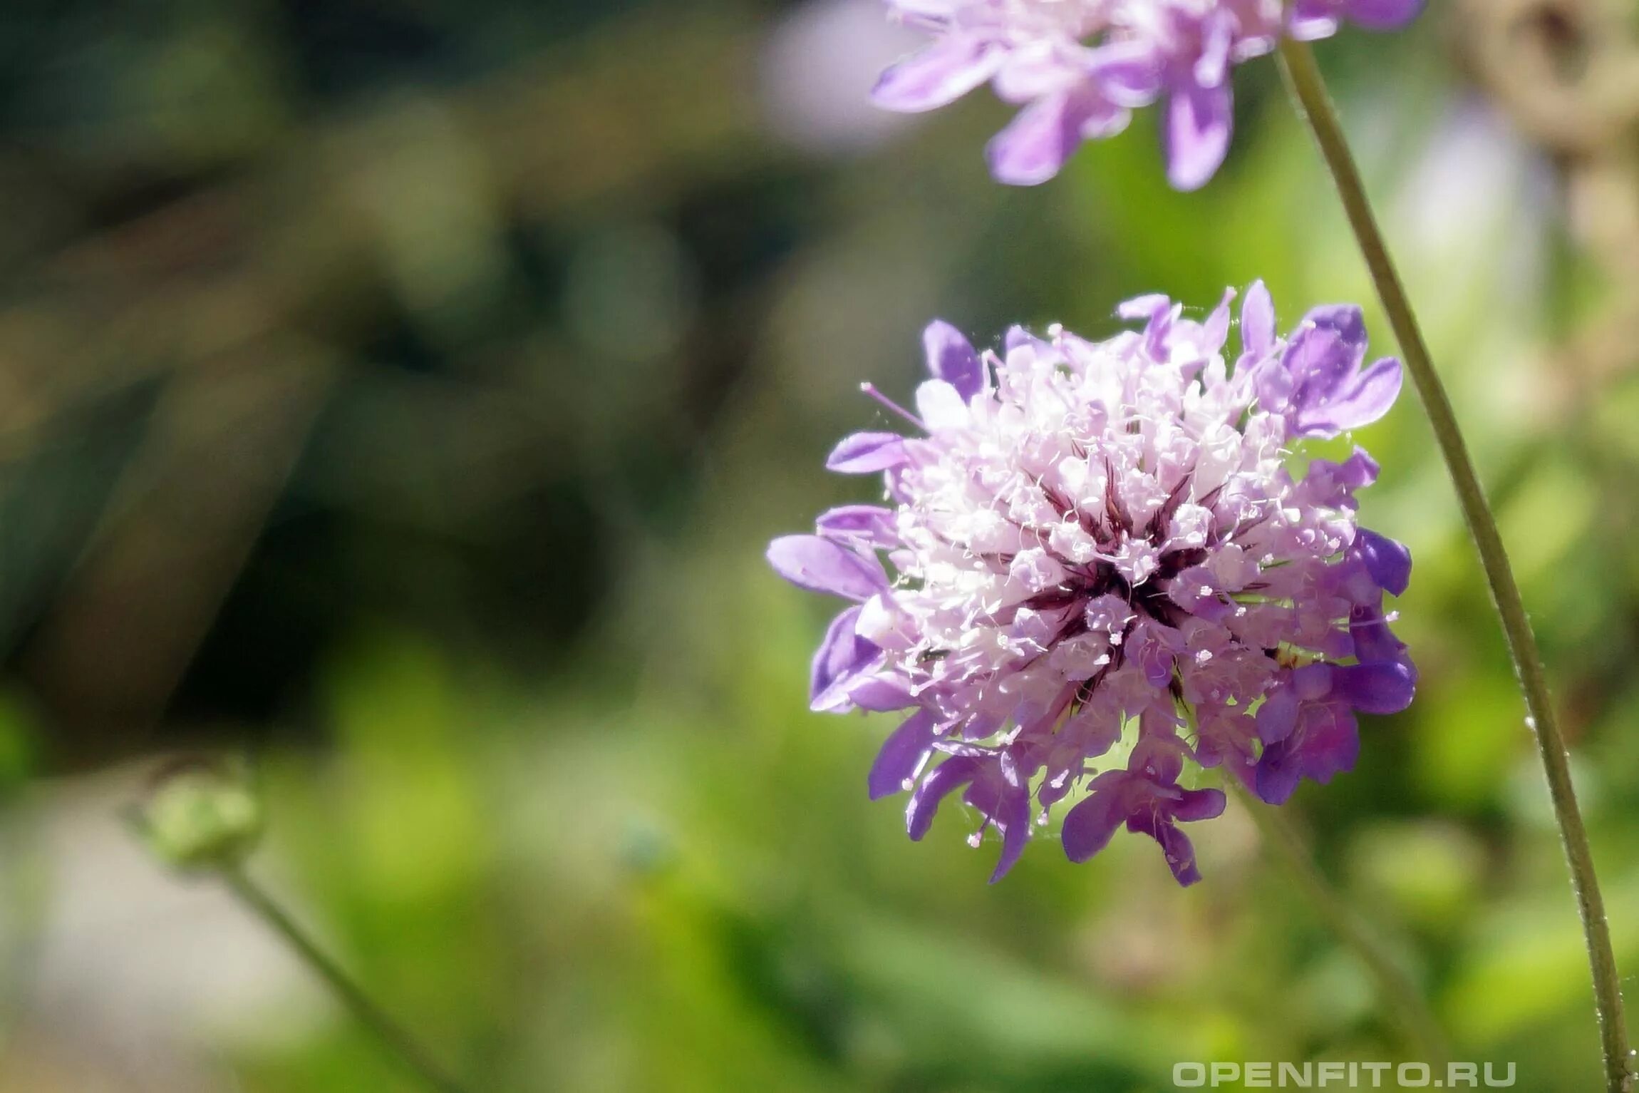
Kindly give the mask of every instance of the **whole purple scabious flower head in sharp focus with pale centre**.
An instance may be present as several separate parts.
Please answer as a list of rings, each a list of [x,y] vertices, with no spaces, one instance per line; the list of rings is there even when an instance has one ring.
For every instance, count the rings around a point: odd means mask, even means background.
[[[1233,297],[1205,321],[1133,300],[1119,315],[1142,329],[1101,342],[1015,328],[1001,354],[933,323],[916,415],[882,400],[916,433],[857,433],[828,462],[880,474],[888,503],[769,546],[780,575],[852,601],[815,655],[811,705],[905,711],[869,790],[910,791],[913,839],[960,793],[974,846],[1001,836],[993,878],[1057,813],[1072,860],[1126,824],[1188,885],[1178,824],[1224,795],[1187,767],[1282,803],[1354,765],[1357,713],[1411,701],[1383,610],[1411,557],[1355,523],[1377,464],[1355,449],[1298,475],[1288,459],[1387,413],[1400,362],[1365,364],[1357,308],[1277,336],[1255,283],[1231,365]]]

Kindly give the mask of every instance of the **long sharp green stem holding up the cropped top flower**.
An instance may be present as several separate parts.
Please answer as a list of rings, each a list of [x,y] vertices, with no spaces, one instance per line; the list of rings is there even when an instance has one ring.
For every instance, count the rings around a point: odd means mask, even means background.
[[[1554,816],[1565,846],[1565,860],[1570,864],[1570,887],[1577,896],[1582,931],[1588,946],[1588,964],[1593,970],[1606,1090],[1608,1093],[1631,1093],[1628,1026],[1623,1021],[1621,980],[1616,972],[1616,955],[1611,950],[1611,929],[1605,919],[1605,900],[1600,896],[1600,882],[1593,872],[1593,852],[1588,847],[1588,831],[1582,823],[1577,790],[1570,780],[1565,737],[1560,734],[1554,706],[1549,701],[1542,655],[1537,652],[1531,619],[1526,616],[1519,585],[1514,582],[1508,552],[1503,549],[1503,537],[1496,529],[1496,518],[1480,488],[1473,459],[1470,459],[1469,447],[1457,428],[1457,415],[1434,372],[1423,331],[1411,311],[1411,302],[1406,298],[1405,285],[1395,272],[1388,246],[1383,243],[1377,218],[1372,215],[1365,184],[1360,180],[1354,156],[1349,152],[1342,123],[1326,93],[1326,82],[1319,66],[1314,64],[1314,54],[1305,43],[1285,39],[1280,44],[1280,67],[1298,113],[1308,121],[1331,170],[1344,211],[1349,215],[1349,224],[1354,228],[1360,252],[1365,256],[1365,264],[1377,285],[1377,295],[1383,302],[1395,338],[1400,341],[1406,370],[1423,398],[1429,424],[1434,426],[1434,439],[1439,442],[1451,480],[1457,487],[1457,500],[1462,505],[1469,533],[1480,551],[1480,564],[1491,588],[1491,601],[1501,618],[1508,652],[1513,657],[1514,672],[1519,675],[1519,688],[1524,692],[1528,724],[1536,732],[1537,754],[1542,757],[1542,769],[1547,773],[1549,796],[1554,801]]]

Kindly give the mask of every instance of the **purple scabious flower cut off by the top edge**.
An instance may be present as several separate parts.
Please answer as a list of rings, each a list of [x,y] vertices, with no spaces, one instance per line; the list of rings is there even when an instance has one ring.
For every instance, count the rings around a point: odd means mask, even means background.
[[[1036,185],[1082,141],[1113,136],[1134,108],[1160,102],[1167,174],[1180,190],[1205,185],[1229,151],[1236,64],[1270,52],[1282,34],[1329,38],[1344,20],[1393,29],[1423,8],[1423,0],[885,2],[934,41],[883,72],[877,105],[933,110],[988,82],[1023,105],[990,143],[990,170]]]

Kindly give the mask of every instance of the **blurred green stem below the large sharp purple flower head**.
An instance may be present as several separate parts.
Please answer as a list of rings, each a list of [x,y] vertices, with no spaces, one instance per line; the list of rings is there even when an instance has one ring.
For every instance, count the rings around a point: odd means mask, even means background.
[[[1360,959],[1372,978],[1377,980],[1380,1001],[1406,1036],[1408,1045],[1421,1062],[1442,1070],[1451,1059],[1446,1034],[1428,1003],[1423,1001],[1423,991],[1411,975],[1372,927],[1331,887],[1314,864],[1314,855],[1303,842],[1303,836],[1287,823],[1285,814],[1254,798],[1233,777],[1226,777],[1224,785],[1252,816],[1264,836],[1264,844],[1280,857],[1326,927]]]

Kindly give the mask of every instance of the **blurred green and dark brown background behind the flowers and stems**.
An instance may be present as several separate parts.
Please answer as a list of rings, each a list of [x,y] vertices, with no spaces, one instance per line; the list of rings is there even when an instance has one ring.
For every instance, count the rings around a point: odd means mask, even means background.
[[[1201,193],[1154,116],[993,185],[988,95],[874,111],[875,0],[97,0],[0,13],[0,1090],[415,1088],[123,816],[249,755],[251,870],[475,1090],[1165,1090],[1406,1059],[1236,808],[988,887],[882,719],[805,708],[762,564],[941,315],[1116,329],[1265,279],[1369,303],[1272,64]],[[1639,968],[1639,31],[1432,0],[1321,46],[1469,426]],[[1390,349],[1369,306],[1378,346]],[[1598,1077],[1521,703],[1410,392],[1416,705],[1287,810],[1459,1059]]]

